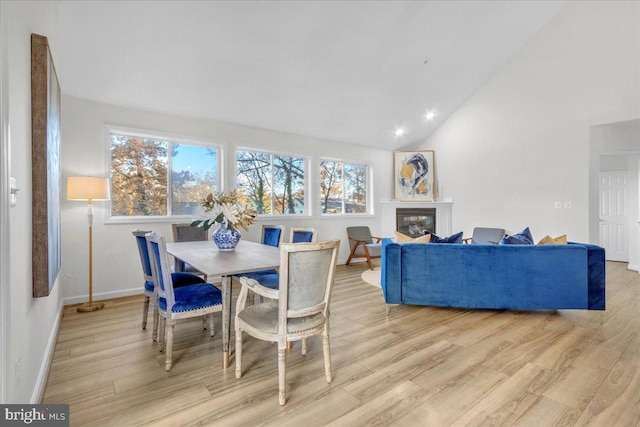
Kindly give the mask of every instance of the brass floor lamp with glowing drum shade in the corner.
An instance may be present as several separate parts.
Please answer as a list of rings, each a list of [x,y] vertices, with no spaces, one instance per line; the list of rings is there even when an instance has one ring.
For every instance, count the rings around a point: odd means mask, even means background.
[[[109,181],[107,178],[93,176],[70,176],[67,179],[67,200],[87,200],[89,210],[89,302],[78,306],[81,313],[104,308],[104,303],[93,303],[93,200],[109,200]]]

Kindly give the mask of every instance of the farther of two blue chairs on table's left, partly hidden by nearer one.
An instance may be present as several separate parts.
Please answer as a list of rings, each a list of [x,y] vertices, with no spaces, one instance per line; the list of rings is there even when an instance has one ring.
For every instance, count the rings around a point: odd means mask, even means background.
[[[149,248],[145,235],[150,231],[141,231],[139,229],[131,230],[136,238],[138,253],[140,254],[140,264],[142,265],[142,275],[144,277],[144,301],[142,306],[142,329],[147,328],[147,317],[149,316],[149,302],[153,300],[153,332],[152,338],[155,341],[158,338],[158,304],[155,298],[155,285],[153,283],[153,270],[151,268],[151,258],[149,257]],[[189,273],[172,273],[171,279],[173,286],[178,288],[184,285],[194,283],[204,283],[200,277]]]

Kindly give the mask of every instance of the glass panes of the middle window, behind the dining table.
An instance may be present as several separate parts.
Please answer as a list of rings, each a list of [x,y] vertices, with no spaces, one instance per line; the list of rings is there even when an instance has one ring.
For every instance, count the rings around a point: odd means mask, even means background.
[[[303,158],[238,150],[236,159],[238,188],[258,214],[304,214]]]

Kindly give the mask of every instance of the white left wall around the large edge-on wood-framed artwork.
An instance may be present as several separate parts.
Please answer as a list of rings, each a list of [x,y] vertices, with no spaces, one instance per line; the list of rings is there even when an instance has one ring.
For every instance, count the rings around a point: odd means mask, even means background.
[[[38,402],[59,324],[60,280],[46,298],[32,297],[31,275],[31,33],[48,37],[55,61],[53,2],[8,2],[10,173],[20,192],[10,209],[10,281],[7,401]]]

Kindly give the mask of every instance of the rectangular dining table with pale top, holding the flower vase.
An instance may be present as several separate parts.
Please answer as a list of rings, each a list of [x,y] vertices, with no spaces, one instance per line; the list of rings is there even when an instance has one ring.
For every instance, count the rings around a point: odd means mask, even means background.
[[[237,274],[267,270],[280,266],[280,249],[241,240],[230,252],[218,250],[212,241],[167,243],[167,252],[209,278],[222,278],[222,367],[229,367],[231,335],[231,283]]]

